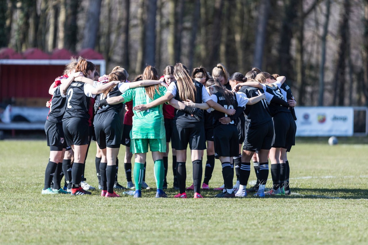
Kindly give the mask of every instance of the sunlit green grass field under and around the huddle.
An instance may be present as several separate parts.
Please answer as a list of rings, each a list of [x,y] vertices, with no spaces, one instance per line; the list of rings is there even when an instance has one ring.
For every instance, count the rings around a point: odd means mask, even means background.
[[[124,148],[120,151],[122,159]],[[155,190],[143,191],[140,199],[107,199],[99,191],[45,196],[41,190],[48,154],[42,140],[0,141],[0,244],[368,242],[368,145],[297,144],[289,155],[293,195],[263,199],[216,199],[214,191],[202,191],[204,199],[159,199]],[[91,147],[86,178],[96,187],[94,154]],[[190,165],[187,169],[190,185]],[[170,167],[168,176],[171,187]],[[125,185],[124,171],[118,178]],[[255,180],[253,169],[250,180]],[[146,182],[155,186],[150,157]],[[216,160],[209,185],[222,183]],[[271,184],[269,175],[267,186]],[[170,188],[167,194],[176,192]]]

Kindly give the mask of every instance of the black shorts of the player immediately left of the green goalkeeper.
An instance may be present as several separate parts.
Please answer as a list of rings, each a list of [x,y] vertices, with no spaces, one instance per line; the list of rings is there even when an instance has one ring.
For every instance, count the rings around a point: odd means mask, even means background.
[[[97,144],[100,149],[120,148],[121,121],[116,111],[99,113],[93,121]]]

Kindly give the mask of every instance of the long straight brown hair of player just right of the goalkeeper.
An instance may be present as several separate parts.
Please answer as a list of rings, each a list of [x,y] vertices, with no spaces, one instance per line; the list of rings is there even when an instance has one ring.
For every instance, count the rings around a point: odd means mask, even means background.
[[[183,64],[176,63],[174,66],[174,77],[177,79],[177,90],[181,101],[195,101],[195,87],[192,78]]]

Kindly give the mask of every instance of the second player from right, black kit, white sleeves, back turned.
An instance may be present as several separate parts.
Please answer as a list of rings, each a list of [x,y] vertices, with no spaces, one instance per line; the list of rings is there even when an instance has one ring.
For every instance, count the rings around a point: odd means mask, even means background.
[[[256,76],[255,80],[262,83],[263,89],[268,93],[286,101],[286,98],[280,90],[284,79],[277,81],[269,73],[261,72]],[[275,128],[275,137],[272,141],[272,148],[269,156],[271,160],[273,188],[266,192],[266,195],[285,195],[283,186],[280,188],[280,150],[281,148],[286,149],[286,145],[295,145],[295,122],[288,107],[289,105],[283,106],[274,102],[271,102],[269,105],[269,111],[273,118],[273,125]]]

